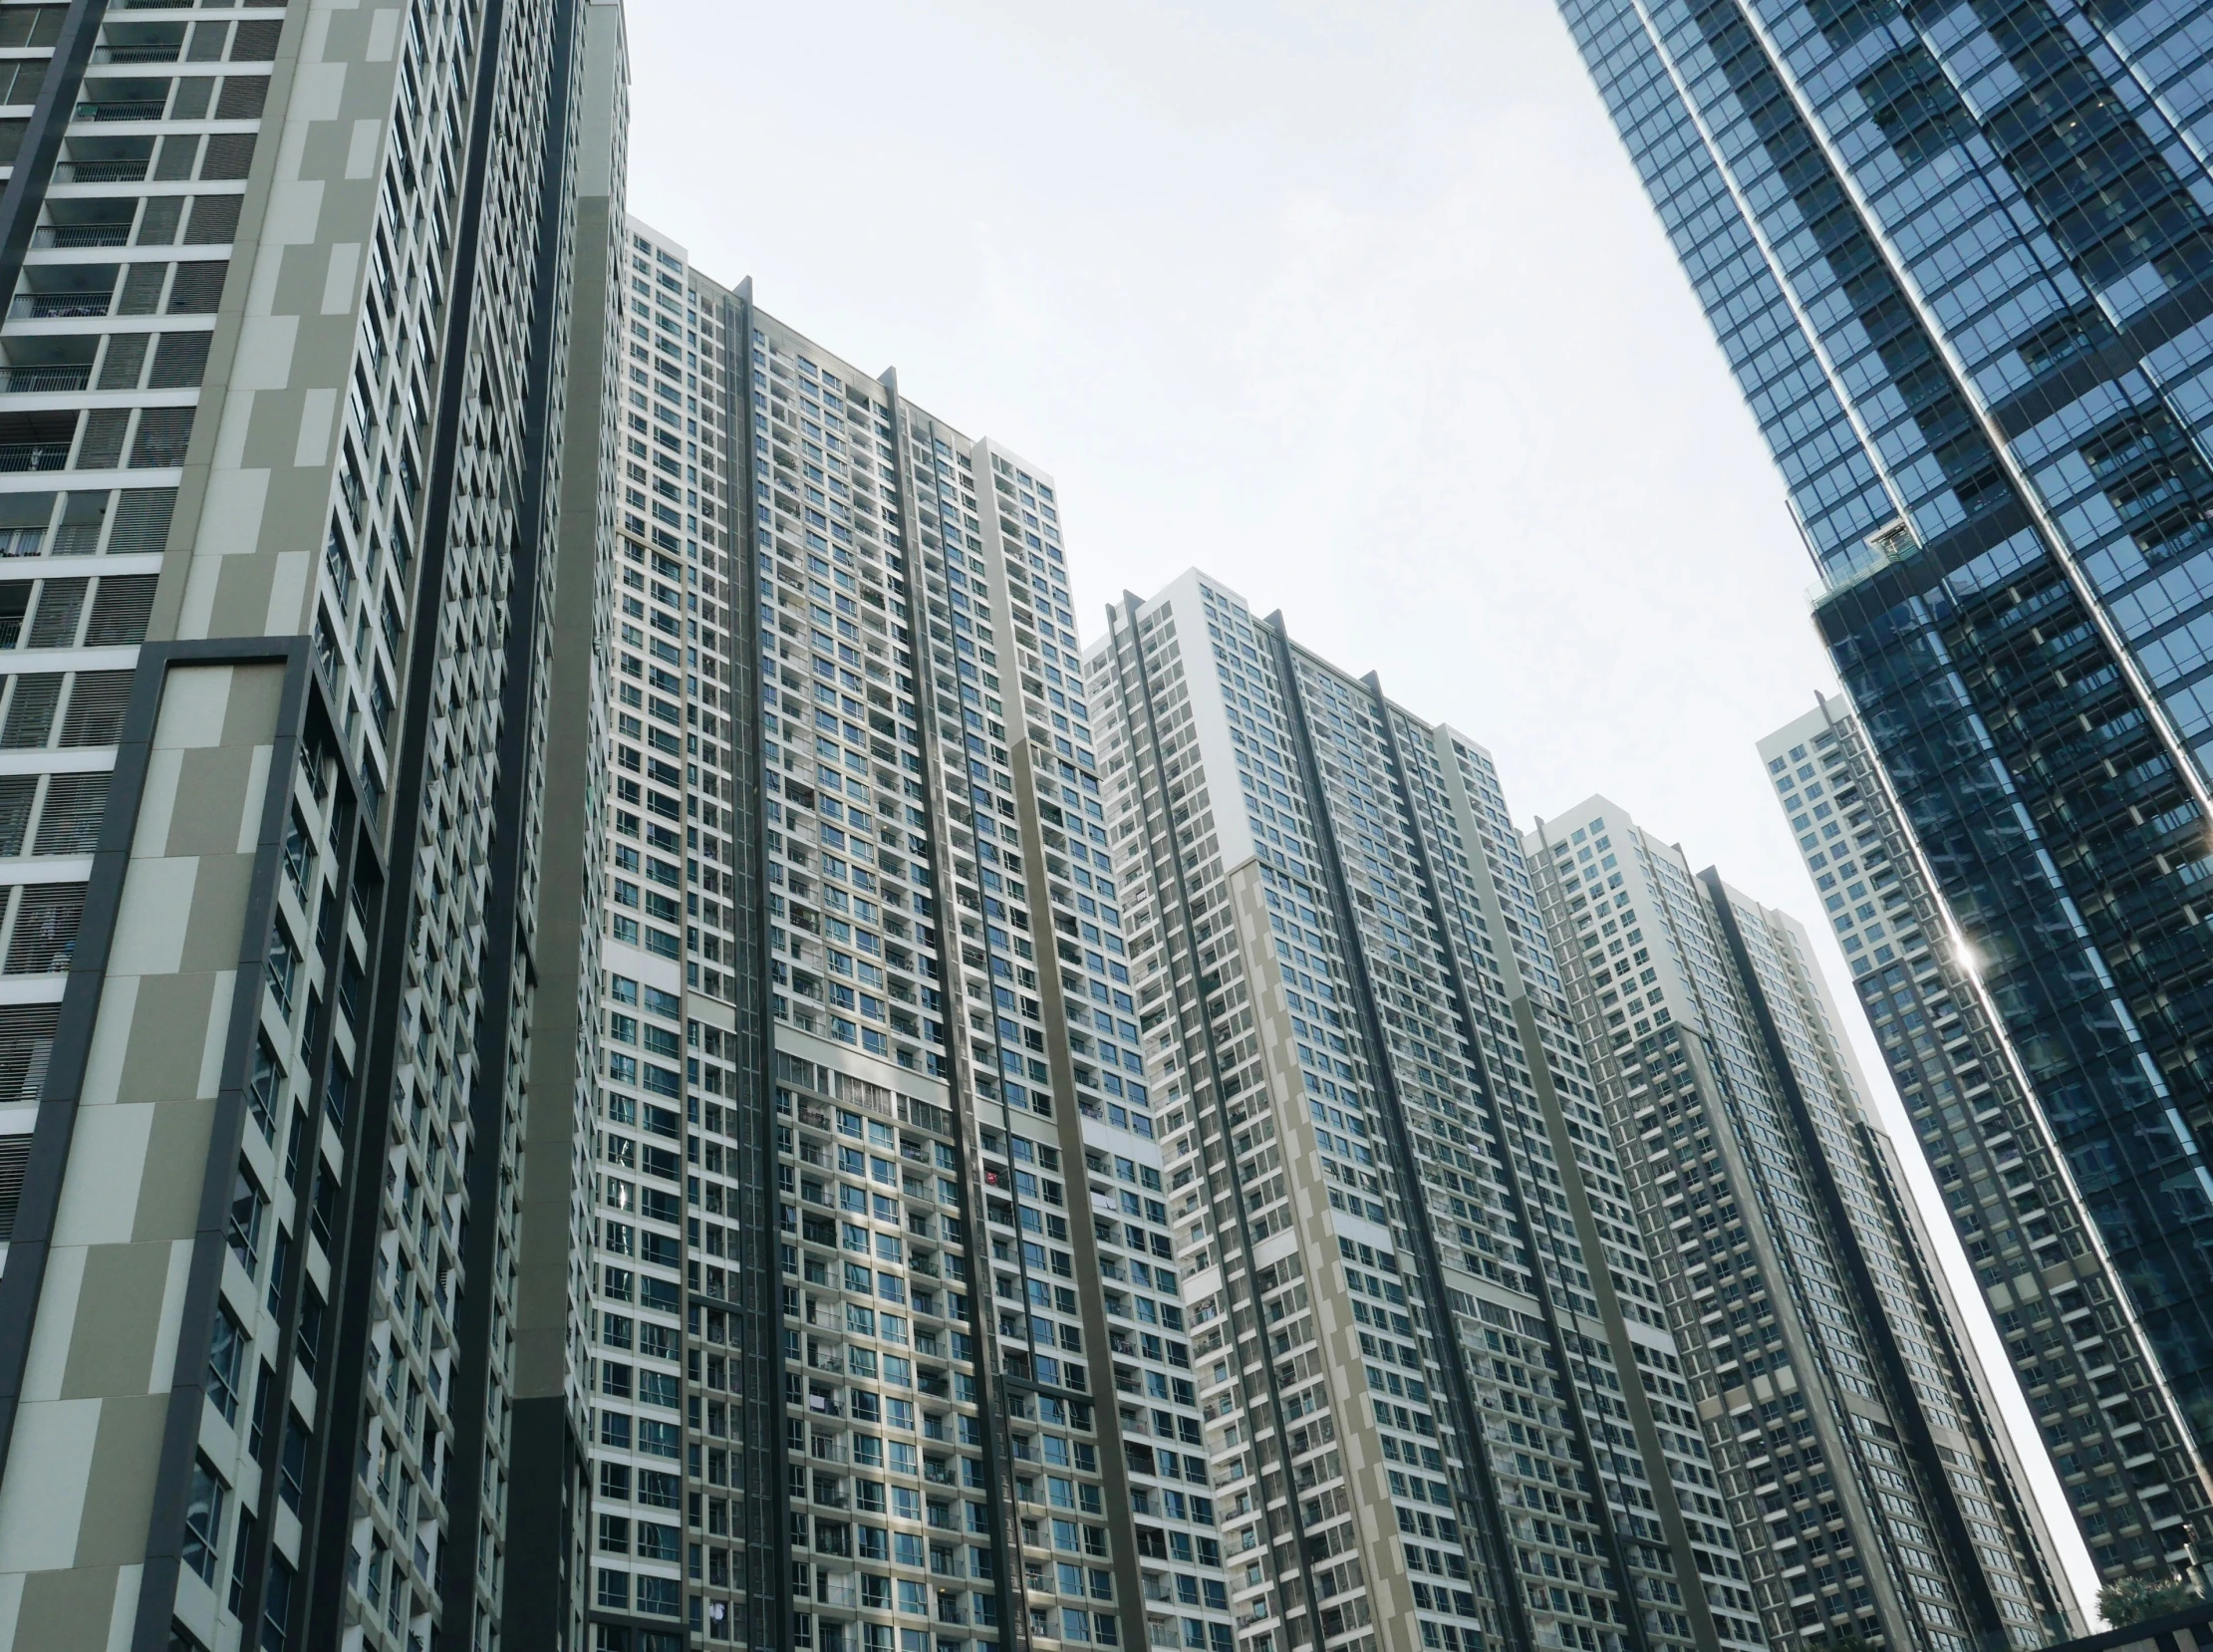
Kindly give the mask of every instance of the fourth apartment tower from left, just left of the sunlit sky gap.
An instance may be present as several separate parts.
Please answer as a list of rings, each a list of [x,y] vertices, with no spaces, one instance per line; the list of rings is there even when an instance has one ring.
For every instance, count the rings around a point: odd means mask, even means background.
[[[1527,849],[1770,1643],[2071,1632],[1806,933],[1607,798]]]

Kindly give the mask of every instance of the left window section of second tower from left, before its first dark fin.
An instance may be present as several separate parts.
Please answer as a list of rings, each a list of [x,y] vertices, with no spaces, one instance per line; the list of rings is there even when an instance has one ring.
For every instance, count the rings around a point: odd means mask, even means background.
[[[684,1084],[686,1028],[693,1028],[693,1048],[704,1048],[704,1033],[713,1028],[717,1057],[724,1055],[724,1037],[735,1033],[728,1004],[735,993],[724,991],[721,969],[708,977],[699,962],[713,953],[719,964],[733,944],[737,924],[735,913],[726,913],[721,867],[739,865],[730,836],[741,836],[730,807],[730,708],[724,699],[728,657],[735,652],[726,617],[730,453],[724,327],[730,316],[728,294],[693,279],[682,248],[628,221],[611,221],[609,243],[613,327],[600,367],[600,402],[609,407],[602,440],[615,478],[613,531],[604,553],[609,621],[598,637],[604,681],[591,725],[571,719],[571,730],[600,747],[593,765],[600,776],[593,858],[600,865],[586,878],[600,911],[595,933],[580,938],[578,947],[580,969],[591,971],[589,1024],[600,1055],[595,1117],[584,1135],[595,1159],[589,1177],[595,1210],[586,1283],[591,1517],[584,1535],[593,1550],[593,1645],[659,1652],[686,1643],[684,1462],[686,1446],[708,1437],[704,1391],[717,1395],[717,1488],[733,1486],[730,1440],[744,1437],[730,1429],[724,1398],[741,1391],[726,1356],[728,1309],[715,1314],[713,1369],[706,1365],[704,1311],[702,1336],[688,1340],[684,1334],[686,1190],[693,1212],[706,1207],[708,1190],[715,1216],[726,1203],[737,1212],[737,1203],[726,1201],[721,1148],[704,1152],[713,1135],[702,1132],[724,1132],[721,1106],[702,1110],[688,1101]],[[648,420],[646,409],[657,416]],[[655,431],[659,440],[653,440]],[[653,661],[651,675],[646,659]],[[584,763],[586,756],[573,752],[569,761]],[[704,889],[713,889],[713,900],[702,909]],[[684,918],[686,896],[690,924]],[[695,997],[688,997],[686,980]],[[735,1059],[735,1050],[730,1055]],[[693,1090],[704,1092],[713,1077],[721,1097],[719,1059],[706,1068],[697,1059]],[[686,1112],[695,1115],[690,1123],[702,1132],[690,1130]],[[733,1161],[728,1174],[735,1172]],[[699,1216],[693,1216],[697,1225]],[[708,1236],[717,1241],[717,1258],[724,1256],[721,1232],[719,1223],[699,1232],[702,1256]],[[699,1263],[690,1274],[704,1296],[708,1278]],[[728,1300],[719,1265],[713,1287],[717,1305]],[[697,1360],[688,1393],[686,1351]],[[695,1424],[690,1431],[686,1411]],[[693,1444],[693,1451],[704,1480],[706,1446]],[[706,1513],[702,1504],[702,1537]],[[713,1515],[724,1537],[715,1583],[717,1595],[728,1597],[728,1491],[717,1495]],[[713,1617],[719,1639],[730,1639],[730,1608],[704,1588],[704,1552],[699,1579],[699,1630]],[[744,1583],[735,1590],[744,1595]],[[713,1610],[717,1606],[719,1612]]]

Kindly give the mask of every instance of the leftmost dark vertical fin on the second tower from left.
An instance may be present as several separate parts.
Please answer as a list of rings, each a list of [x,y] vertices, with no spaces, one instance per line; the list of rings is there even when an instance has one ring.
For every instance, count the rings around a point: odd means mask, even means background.
[[[739,955],[737,975],[752,984],[750,997],[739,1004],[735,1017],[737,1033],[746,1039],[741,1059],[733,1070],[746,1086],[741,1095],[741,1121],[733,1135],[741,1143],[737,1199],[739,1203],[739,1250],[744,1267],[735,1269],[741,1309],[744,1338],[739,1356],[746,1382],[739,1415],[746,1420],[739,1444],[746,1453],[746,1495],[741,1535],[746,1541],[746,1623],[744,1643],[750,1648],[779,1648],[790,1637],[792,1623],[792,1568],[790,1568],[790,1462],[783,1444],[783,1269],[777,1254],[777,1042],[770,1015],[768,989],[768,900],[761,889],[761,860],[766,856],[768,812],[761,807],[761,582],[755,571],[752,511],[759,502],[752,491],[752,453],[739,447],[737,433],[750,429],[752,416],[752,281],[737,287],[733,316],[724,325],[724,429],[728,473],[741,489],[737,520],[746,524],[744,540],[733,537],[733,562],[744,566],[730,571],[730,586],[737,593],[741,648],[730,650],[730,699],[735,717],[728,719],[737,759],[733,761],[739,814],[746,827],[730,834],[733,854],[739,856],[735,871],[739,885],[739,907],[752,911],[750,924],[737,927]],[[735,334],[735,343],[730,341]],[[613,363],[609,365],[613,372]],[[744,389],[739,389],[744,385]]]

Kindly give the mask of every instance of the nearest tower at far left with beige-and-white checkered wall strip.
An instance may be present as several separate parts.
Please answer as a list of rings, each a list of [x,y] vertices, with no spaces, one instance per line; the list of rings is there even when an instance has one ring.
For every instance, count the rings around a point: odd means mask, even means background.
[[[586,11],[0,13],[0,1643],[496,1639]]]

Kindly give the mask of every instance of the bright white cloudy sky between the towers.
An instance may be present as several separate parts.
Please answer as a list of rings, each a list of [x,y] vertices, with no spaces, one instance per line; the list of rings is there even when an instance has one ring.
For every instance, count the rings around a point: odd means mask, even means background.
[[[1607,792],[1817,918],[1753,754],[1835,686],[1815,571],[1549,4],[640,0],[628,24],[631,210],[1053,473],[1087,639],[1199,564],[1489,745],[1518,823]]]

